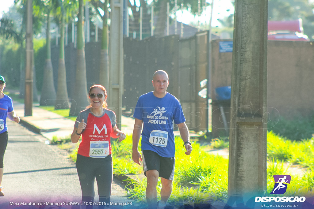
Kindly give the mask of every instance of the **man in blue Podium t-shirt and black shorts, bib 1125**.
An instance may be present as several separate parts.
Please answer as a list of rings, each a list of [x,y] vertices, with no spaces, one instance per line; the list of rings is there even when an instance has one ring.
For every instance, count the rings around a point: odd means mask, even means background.
[[[140,161],[143,161],[143,170],[147,178],[148,207],[164,208],[172,192],[175,169],[173,123],[179,128],[183,146],[187,150],[185,154],[191,154],[192,146],[181,104],[176,97],[166,91],[169,86],[168,74],[162,70],[156,71],[152,83],[154,91],[140,96],[134,109],[132,159],[139,165]],[[138,151],[141,135],[142,154]],[[159,177],[162,188],[160,201],[157,202],[156,186]]]

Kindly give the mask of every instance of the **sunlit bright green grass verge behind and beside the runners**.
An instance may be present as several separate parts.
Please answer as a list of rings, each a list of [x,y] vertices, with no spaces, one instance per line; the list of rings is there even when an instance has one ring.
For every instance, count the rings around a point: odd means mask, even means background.
[[[63,139],[64,141],[68,139]],[[176,170],[173,181],[173,191],[168,201],[170,205],[211,203],[213,201],[226,201],[228,188],[228,159],[218,155],[208,154],[196,141],[192,142],[193,151],[191,155],[184,154],[182,139],[176,137]],[[225,142],[226,139],[221,139]],[[62,144],[59,141],[56,144]],[[267,193],[273,189],[273,175],[288,174],[293,177],[285,196],[313,195],[314,188],[314,166],[309,165],[309,171],[304,176],[297,176],[289,173],[286,162],[294,162],[296,155],[299,156],[299,163],[305,165],[313,156],[313,139],[291,142],[280,138],[272,132],[268,133],[268,162],[267,162]],[[291,147],[293,146],[293,147]],[[121,143],[115,140],[111,142],[114,174],[143,174],[142,166],[135,164],[132,160],[132,136]],[[303,150],[302,154],[293,151]],[[307,149],[306,149],[307,148]],[[75,161],[78,149],[72,150],[71,158]],[[140,149],[140,148],[139,148]],[[296,154],[293,154],[296,153]],[[290,160],[289,160],[290,159]],[[127,187],[128,195],[137,201],[145,204],[146,178],[132,181],[132,186]],[[157,190],[160,194],[161,183],[158,182]],[[160,197],[159,197],[160,198]]]

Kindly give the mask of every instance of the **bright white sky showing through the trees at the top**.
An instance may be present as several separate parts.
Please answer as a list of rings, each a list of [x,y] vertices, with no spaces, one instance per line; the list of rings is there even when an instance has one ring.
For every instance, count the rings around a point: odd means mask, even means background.
[[[220,26],[217,19],[222,19],[224,17],[229,16],[230,14],[234,13],[234,7],[231,3],[232,0],[214,0],[214,11],[213,11],[213,18],[212,18],[212,27],[216,27],[217,25]],[[135,1],[136,3],[137,1]],[[211,3],[212,0],[207,0],[208,3]],[[7,12],[9,10],[9,7],[14,4],[14,0],[0,0],[0,18],[2,17],[4,12]],[[227,11],[229,10],[229,11]],[[210,11],[211,8],[208,7],[206,9],[206,13],[203,14],[200,21],[202,23],[209,24],[209,18],[210,18]],[[179,22],[183,22],[185,24],[189,24],[191,20],[194,20],[195,23],[198,22],[198,18],[187,11],[184,11],[183,13],[181,11],[177,12],[177,20]]]

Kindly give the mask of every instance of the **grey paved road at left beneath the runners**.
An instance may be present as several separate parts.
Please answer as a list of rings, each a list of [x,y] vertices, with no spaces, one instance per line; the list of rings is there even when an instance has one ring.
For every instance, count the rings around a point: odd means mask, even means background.
[[[5,196],[0,197],[0,208],[18,208],[9,204],[21,201],[80,201],[78,175],[67,151],[46,145],[45,137],[10,120],[8,129],[9,143],[4,155],[2,182]],[[98,196],[95,197],[97,200]],[[126,198],[126,191],[113,183],[111,201],[130,200]]]

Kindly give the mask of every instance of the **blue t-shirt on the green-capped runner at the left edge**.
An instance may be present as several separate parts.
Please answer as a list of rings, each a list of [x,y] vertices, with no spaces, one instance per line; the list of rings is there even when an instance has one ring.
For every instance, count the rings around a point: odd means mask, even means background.
[[[7,117],[8,112],[13,111],[13,103],[11,97],[4,94],[4,97],[0,99],[0,133],[8,130]]]

